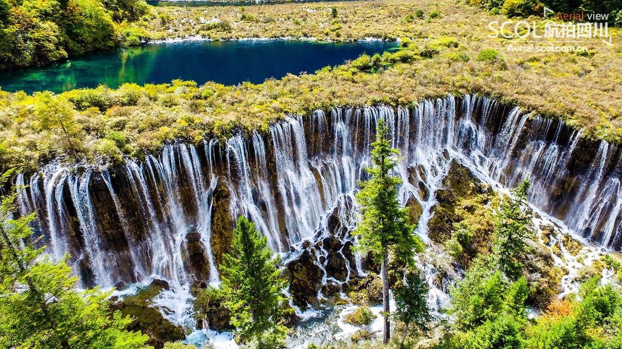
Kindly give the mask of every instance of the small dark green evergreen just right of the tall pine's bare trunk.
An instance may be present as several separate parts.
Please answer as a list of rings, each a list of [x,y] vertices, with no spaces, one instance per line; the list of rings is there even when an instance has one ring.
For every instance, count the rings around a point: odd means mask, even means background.
[[[400,348],[404,348],[404,340],[406,340],[410,325],[422,333],[429,331],[432,314],[427,304],[428,291],[425,279],[421,277],[419,271],[415,271],[407,273],[402,287],[393,292],[396,306],[395,317],[404,323]]]

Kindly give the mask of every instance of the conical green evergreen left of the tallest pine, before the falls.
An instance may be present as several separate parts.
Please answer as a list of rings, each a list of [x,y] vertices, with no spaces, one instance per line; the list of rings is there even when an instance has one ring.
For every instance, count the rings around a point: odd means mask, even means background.
[[[231,253],[223,255],[221,292],[241,343],[255,343],[260,349],[285,346],[287,329],[280,322],[286,284],[277,265],[279,258],[272,258],[266,237],[239,217]]]

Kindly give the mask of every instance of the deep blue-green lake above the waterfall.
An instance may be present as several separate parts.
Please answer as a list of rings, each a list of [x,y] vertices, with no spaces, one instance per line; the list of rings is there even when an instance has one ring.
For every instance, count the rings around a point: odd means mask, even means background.
[[[395,42],[312,42],[301,40],[185,40],[123,48],[86,55],[63,63],[16,72],[1,72],[4,91],[52,91],[94,88],[108,84],[117,88],[133,82],[168,83],[172,79],[194,80],[199,84],[216,81],[238,84],[261,83],[327,65],[340,65],[361,53],[384,52]]]

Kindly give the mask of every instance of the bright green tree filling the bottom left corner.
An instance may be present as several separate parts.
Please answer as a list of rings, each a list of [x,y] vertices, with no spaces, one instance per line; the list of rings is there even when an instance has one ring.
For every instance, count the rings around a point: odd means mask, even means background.
[[[15,199],[0,197],[0,348],[145,348],[146,335],[126,331],[128,317],[111,316],[108,293],[77,291],[65,261],[40,258],[28,225],[34,214],[11,219]]]

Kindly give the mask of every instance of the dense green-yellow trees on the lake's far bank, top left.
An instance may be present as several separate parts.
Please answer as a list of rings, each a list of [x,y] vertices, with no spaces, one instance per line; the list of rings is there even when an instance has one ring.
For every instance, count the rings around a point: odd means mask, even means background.
[[[0,70],[136,45],[141,32],[125,28],[146,12],[141,0],[0,0]]]

